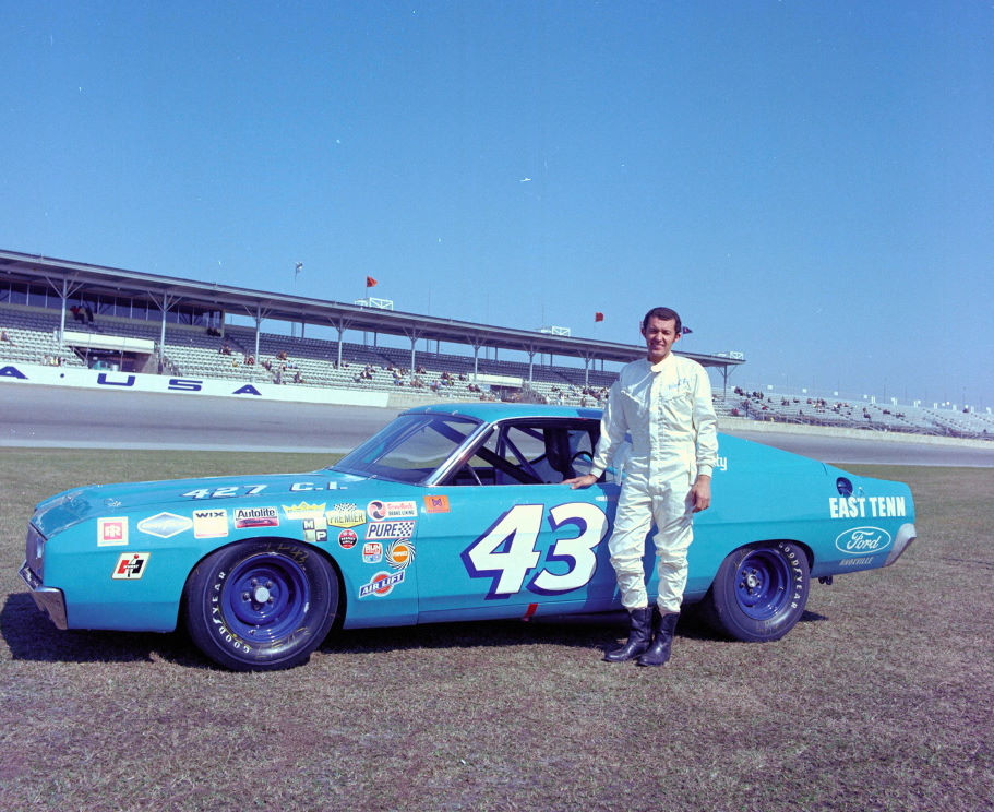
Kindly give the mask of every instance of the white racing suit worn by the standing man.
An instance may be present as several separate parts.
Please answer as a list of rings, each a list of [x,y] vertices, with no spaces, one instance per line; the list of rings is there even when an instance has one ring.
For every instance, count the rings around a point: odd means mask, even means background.
[[[655,523],[657,604],[663,614],[679,612],[694,538],[691,488],[718,462],[718,420],[704,368],[672,354],[656,365],[643,358],[625,366],[608,396],[591,474],[600,477],[626,434],[632,447],[608,541],[621,602],[630,610],[648,606],[642,559]]]

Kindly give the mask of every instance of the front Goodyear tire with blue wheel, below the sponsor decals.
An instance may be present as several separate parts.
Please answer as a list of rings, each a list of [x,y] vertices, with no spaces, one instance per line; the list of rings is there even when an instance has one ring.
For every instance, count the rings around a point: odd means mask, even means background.
[[[327,636],[338,578],[313,548],[258,539],[207,556],[183,595],[187,629],[204,655],[235,671],[273,671],[304,662]]]

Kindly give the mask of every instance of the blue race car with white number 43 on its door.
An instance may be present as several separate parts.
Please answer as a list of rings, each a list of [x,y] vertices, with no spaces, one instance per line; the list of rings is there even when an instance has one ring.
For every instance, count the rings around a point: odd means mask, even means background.
[[[21,575],[59,629],[183,623],[237,670],[299,665],[333,626],[616,611],[621,473],[561,483],[589,470],[599,420],[428,406],[312,474],[76,488],[37,505]],[[736,640],[778,640],[812,577],[887,566],[915,537],[907,486],[733,437],[712,493],[685,601]]]

